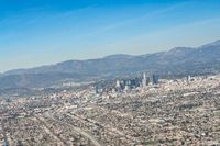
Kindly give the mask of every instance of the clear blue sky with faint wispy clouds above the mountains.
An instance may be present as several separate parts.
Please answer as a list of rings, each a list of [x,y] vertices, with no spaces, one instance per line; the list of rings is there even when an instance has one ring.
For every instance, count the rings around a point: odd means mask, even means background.
[[[220,0],[0,0],[0,72],[220,38]]]

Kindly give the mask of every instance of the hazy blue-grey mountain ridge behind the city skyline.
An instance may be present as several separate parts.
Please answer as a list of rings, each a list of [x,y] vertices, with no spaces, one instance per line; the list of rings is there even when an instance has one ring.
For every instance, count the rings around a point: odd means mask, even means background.
[[[50,87],[65,81],[87,81],[141,71],[158,75],[213,74],[220,70],[220,40],[197,48],[176,47],[140,56],[111,55],[98,59],[67,60],[31,69],[9,70],[0,88]]]

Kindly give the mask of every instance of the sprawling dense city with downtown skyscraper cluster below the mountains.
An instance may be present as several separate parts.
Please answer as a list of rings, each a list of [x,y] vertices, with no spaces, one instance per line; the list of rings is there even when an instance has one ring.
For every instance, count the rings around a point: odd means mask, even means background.
[[[220,76],[158,79],[0,98],[2,146],[219,146]]]

